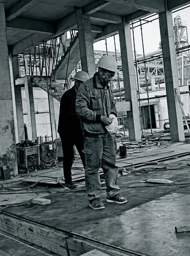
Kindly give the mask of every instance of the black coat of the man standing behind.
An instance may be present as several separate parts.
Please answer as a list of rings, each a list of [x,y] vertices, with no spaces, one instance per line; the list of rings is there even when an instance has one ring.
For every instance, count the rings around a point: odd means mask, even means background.
[[[76,90],[73,86],[71,89],[63,93],[60,100],[60,112],[58,122],[58,133],[63,134],[82,134],[81,120],[75,111]]]

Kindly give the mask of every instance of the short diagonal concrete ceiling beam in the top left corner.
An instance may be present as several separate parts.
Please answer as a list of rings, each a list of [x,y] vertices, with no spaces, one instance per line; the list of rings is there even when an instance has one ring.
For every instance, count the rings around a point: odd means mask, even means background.
[[[35,5],[38,0],[20,0],[18,3],[16,3],[12,8],[8,9],[5,13],[6,21],[13,20],[17,16],[19,16],[21,13],[25,12],[27,9]]]

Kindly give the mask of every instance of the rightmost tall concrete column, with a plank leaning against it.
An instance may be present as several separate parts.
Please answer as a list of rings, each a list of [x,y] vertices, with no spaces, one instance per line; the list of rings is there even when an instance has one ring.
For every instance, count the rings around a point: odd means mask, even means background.
[[[177,88],[179,93],[179,81],[172,12],[166,11],[159,14],[159,23],[171,140],[183,141],[183,119],[180,105],[175,93],[175,88]]]

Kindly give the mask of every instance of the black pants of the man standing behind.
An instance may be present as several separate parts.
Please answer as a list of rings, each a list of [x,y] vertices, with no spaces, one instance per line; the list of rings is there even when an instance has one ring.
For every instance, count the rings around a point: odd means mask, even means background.
[[[64,134],[60,135],[61,138],[61,144],[63,148],[63,174],[65,182],[71,182],[72,181],[72,173],[71,168],[73,164],[73,158],[74,158],[74,148],[75,147],[78,150],[78,153],[80,154],[83,166],[85,168],[85,155],[83,153],[84,148],[84,142],[83,142],[83,134]]]

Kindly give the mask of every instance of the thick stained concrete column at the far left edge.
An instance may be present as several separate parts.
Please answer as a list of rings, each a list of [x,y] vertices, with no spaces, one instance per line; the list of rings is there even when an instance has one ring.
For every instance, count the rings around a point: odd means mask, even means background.
[[[2,166],[13,168],[14,175],[17,175],[18,171],[5,10],[2,0],[0,0],[0,42],[0,177],[3,177]]]

